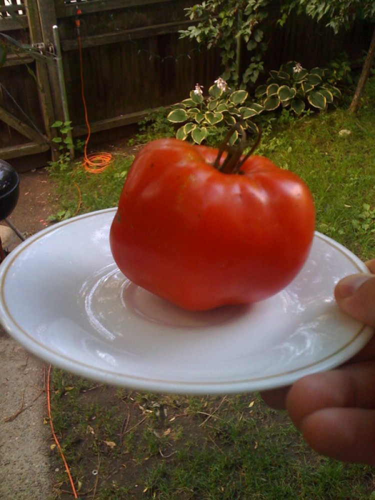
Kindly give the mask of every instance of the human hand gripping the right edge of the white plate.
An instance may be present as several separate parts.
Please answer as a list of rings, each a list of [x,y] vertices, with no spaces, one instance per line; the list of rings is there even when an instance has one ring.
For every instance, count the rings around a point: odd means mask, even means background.
[[[366,265],[375,274],[375,259]],[[347,276],[337,283],[334,294],[342,310],[375,328],[375,276]],[[286,408],[319,453],[375,465],[375,335],[342,366],[261,396],[276,409]]]

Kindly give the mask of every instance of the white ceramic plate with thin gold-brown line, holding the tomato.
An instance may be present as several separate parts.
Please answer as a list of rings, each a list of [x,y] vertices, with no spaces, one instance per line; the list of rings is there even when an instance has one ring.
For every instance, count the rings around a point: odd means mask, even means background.
[[[0,265],[0,320],[26,349],[55,366],[146,391],[231,393],[289,384],[336,366],[372,330],[333,298],[364,264],[315,233],[298,276],[249,306],[188,312],[118,270],[109,248],[115,209],[55,224]]]

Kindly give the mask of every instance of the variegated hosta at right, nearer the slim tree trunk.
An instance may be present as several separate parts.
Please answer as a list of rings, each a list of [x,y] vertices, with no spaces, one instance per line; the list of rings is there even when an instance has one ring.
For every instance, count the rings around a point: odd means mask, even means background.
[[[298,62],[289,61],[281,64],[279,71],[269,72],[266,84],[256,88],[255,97],[261,99],[266,111],[283,107],[300,115],[306,106],[326,109],[341,96],[331,84],[331,73],[318,67],[307,71]]]

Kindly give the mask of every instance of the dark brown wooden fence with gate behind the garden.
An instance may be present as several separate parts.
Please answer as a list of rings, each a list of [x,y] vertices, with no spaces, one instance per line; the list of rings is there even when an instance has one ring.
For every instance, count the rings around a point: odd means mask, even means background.
[[[178,35],[179,29],[191,24],[184,8],[194,3],[0,0],[0,32],[21,43],[37,44],[48,58],[48,62],[35,61],[8,51],[0,68],[0,157],[43,151],[50,156],[56,133],[50,125],[63,119],[53,25],[58,27],[61,41],[68,113],[75,136],[87,132],[81,76],[92,132],[135,123],[147,109],[185,98],[196,82],[207,88],[221,72],[218,52],[203,50]],[[277,6],[274,2],[275,9]],[[337,37],[329,29],[317,31],[307,18],[291,19],[283,29],[273,22],[266,65],[273,69],[296,58],[309,67],[342,50],[357,56],[367,48],[369,36],[370,29],[363,25]],[[1,42],[6,44],[0,35]]]

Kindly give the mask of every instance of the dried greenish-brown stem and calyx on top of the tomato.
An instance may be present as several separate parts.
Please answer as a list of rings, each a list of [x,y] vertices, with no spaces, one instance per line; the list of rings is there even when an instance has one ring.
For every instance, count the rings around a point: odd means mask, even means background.
[[[241,133],[241,140],[237,147],[232,147],[229,145],[229,139],[233,134],[233,132],[235,131]],[[250,150],[244,156],[242,156],[243,151],[245,150],[246,147],[249,146],[250,143],[246,138],[246,132],[244,131],[244,129],[241,127],[239,123],[235,123],[235,125],[233,125],[229,129],[224,140],[219,145],[217,156],[213,163],[214,168],[216,168],[222,173],[234,173],[234,174],[241,173],[239,171],[241,166],[246,161],[246,159],[254,152],[254,150],[258,147],[260,142],[260,136],[261,132],[259,131],[255,142],[250,147]],[[226,151],[227,154],[225,156],[224,161],[220,164],[220,159],[224,151]]]

